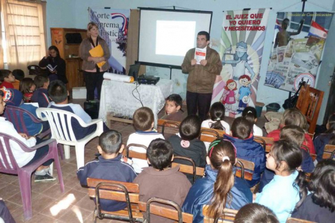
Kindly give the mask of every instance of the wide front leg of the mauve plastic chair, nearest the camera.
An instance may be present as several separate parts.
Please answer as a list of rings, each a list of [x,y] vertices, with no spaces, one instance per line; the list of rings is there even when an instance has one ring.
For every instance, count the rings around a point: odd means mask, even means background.
[[[21,190],[21,198],[23,203],[23,213],[26,220],[32,218],[32,173],[19,171],[19,184]]]

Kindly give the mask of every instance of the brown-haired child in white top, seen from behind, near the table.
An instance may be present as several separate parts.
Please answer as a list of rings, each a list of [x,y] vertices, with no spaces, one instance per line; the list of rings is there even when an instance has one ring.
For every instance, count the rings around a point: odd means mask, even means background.
[[[134,128],[136,132],[130,134],[127,145],[132,143],[141,144],[148,148],[150,142],[156,138],[163,138],[164,136],[154,130],[154,113],[148,107],[140,107],[134,112],[132,116]],[[142,147],[130,147],[131,150],[138,153],[146,153]],[[133,158],[132,167],[136,173],[141,173],[143,167],[149,167],[146,160]]]

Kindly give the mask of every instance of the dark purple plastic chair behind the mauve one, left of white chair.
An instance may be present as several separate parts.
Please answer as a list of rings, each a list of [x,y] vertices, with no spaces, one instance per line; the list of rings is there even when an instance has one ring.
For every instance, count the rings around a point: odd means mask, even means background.
[[[19,115],[18,115],[19,114]],[[11,105],[6,105],[5,114],[3,114],[7,120],[9,120],[13,125],[14,128],[17,130],[17,132],[27,134],[27,136],[30,136],[28,133],[28,129],[26,127],[26,124],[24,123],[23,115],[26,114],[29,116],[29,118],[34,123],[42,123],[43,121],[39,118],[35,117],[33,114],[31,114],[29,111],[25,109],[21,109],[21,107],[15,107]],[[37,137],[44,138],[45,136],[48,136],[51,134],[51,129],[48,129],[47,131],[42,132],[41,134],[38,134]],[[59,144],[58,146],[59,154],[61,156],[61,159],[64,159],[64,153],[63,148]]]

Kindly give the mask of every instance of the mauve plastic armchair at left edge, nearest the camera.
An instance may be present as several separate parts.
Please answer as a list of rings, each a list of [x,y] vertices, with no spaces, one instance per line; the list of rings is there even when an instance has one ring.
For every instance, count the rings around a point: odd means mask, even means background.
[[[23,211],[24,217],[26,220],[29,220],[32,217],[32,190],[31,190],[31,178],[32,172],[34,172],[38,167],[41,166],[44,162],[54,159],[54,164],[57,169],[59,183],[61,184],[61,192],[64,192],[64,183],[63,183],[63,176],[61,174],[61,164],[59,162],[59,156],[57,151],[57,141],[54,139],[46,140],[45,142],[40,143],[34,147],[27,147],[17,138],[14,138],[8,134],[0,134],[0,173],[10,173],[19,176],[19,184],[23,202]],[[26,167],[19,167],[17,162],[14,159],[12,154],[12,150],[10,148],[10,141],[17,142],[21,149],[26,153],[30,153],[35,149],[39,149],[45,145],[49,145],[49,152],[43,158],[37,160],[33,164],[30,164]],[[7,148],[7,149],[6,149]],[[6,156],[6,151],[8,156]],[[2,161],[2,162],[1,162]]]

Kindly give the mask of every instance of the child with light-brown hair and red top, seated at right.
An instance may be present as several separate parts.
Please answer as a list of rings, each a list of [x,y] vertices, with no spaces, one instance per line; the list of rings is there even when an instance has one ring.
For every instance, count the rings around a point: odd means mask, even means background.
[[[305,129],[307,128],[307,120],[306,117],[298,109],[286,109],[284,111],[283,117],[281,118],[279,129],[271,131],[269,134],[267,134],[267,137],[274,138],[274,141],[278,141],[281,128],[285,125],[297,125],[305,131]],[[309,149],[309,153],[315,154],[312,138],[309,136],[309,134],[307,134],[307,132],[305,132],[305,141],[303,142],[303,145]]]

